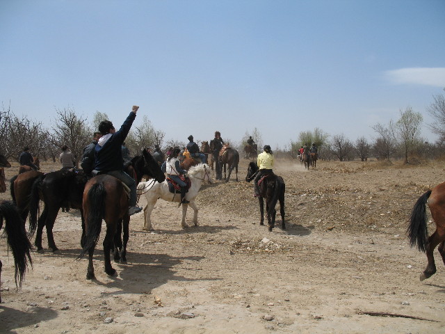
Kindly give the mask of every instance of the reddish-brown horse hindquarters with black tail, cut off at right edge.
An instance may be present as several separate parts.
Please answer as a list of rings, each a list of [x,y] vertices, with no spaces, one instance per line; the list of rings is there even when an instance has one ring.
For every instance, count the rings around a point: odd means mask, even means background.
[[[426,203],[436,223],[436,230],[430,237],[428,237]],[[420,251],[426,253],[428,265],[420,276],[420,280],[426,280],[436,273],[433,251],[437,245],[445,264],[445,182],[419,197],[411,212],[407,234],[410,246],[417,246]]]

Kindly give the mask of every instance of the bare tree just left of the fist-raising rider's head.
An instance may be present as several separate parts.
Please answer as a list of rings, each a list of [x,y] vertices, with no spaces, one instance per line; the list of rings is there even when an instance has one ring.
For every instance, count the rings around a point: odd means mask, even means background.
[[[90,142],[92,130],[86,124],[86,118],[77,116],[71,107],[56,109],[56,113],[58,118],[52,127],[51,143],[59,148],[67,145],[78,163],[83,148]]]

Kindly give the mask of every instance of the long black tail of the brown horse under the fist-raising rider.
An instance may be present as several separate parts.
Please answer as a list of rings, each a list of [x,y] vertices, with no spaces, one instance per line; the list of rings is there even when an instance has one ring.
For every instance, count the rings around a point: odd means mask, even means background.
[[[100,230],[102,228],[102,217],[105,212],[105,187],[102,183],[95,183],[88,190],[89,211],[86,223],[85,242],[81,253],[77,257],[80,259],[83,255],[93,250],[99,240]]]

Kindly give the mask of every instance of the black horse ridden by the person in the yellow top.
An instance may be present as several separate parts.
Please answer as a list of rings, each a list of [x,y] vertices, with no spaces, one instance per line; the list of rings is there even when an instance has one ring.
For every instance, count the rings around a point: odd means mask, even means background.
[[[250,182],[259,172],[259,168],[254,161],[250,161],[248,167],[248,174],[245,177],[246,182]],[[262,180],[262,181],[261,181]],[[261,183],[260,183],[261,182]],[[275,216],[277,210],[275,210],[275,205],[277,201],[280,201],[280,214],[282,220],[282,229],[286,230],[286,224],[284,223],[284,192],[286,191],[286,184],[281,176],[270,174],[261,177],[259,180],[259,214],[260,221],[259,225],[264,225],[264,200],[266,198],[266,212],[268,228],[271,232],[275,227]]]

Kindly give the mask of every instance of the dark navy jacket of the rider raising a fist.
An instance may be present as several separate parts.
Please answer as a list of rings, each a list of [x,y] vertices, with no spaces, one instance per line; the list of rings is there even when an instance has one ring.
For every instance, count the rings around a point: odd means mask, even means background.
[[[122,143],[130,131],[133,120],[136,118],[136,113],[131,113],[120,127],[119,131],[115,132],[108,138],[108,141],[103,146],[97,144],[95,148],[95,170],[106,173],[111,170],[123,170],[124,163],[122,159]],[[100,142],[100,141],[99,141]]]

